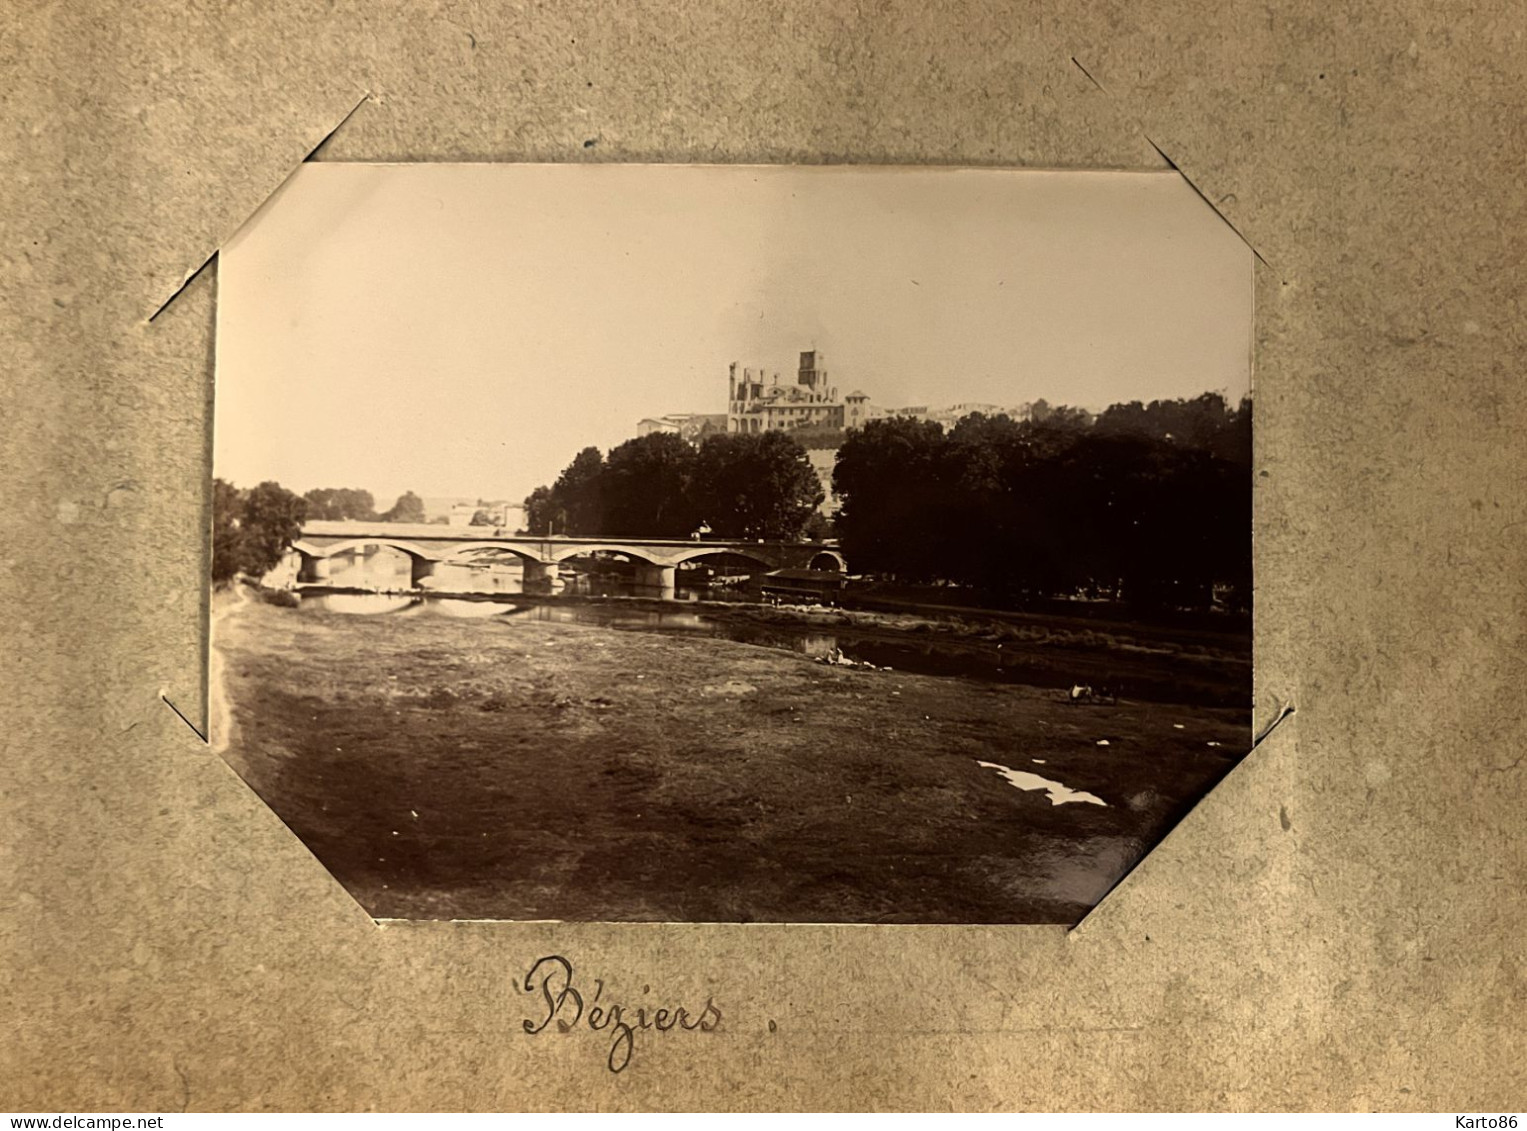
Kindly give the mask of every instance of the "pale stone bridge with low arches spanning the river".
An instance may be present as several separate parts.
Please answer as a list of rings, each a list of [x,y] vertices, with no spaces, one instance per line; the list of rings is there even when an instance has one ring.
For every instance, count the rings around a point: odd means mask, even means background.
[[[736,554],[767,569],[843,569],[843,556],[831,542],[742,542],[673,540],[621,537],[542,537],[512,534],[493,527],[414,525],[406,522],[322,522],[302,524],[302,536],[292,545],[301,556],[298,580],[328,580],[328,560],[362,546],[386,546],[408,554],[411,580],[420,588],[447,562],[472,562],[484,551],[510,553],[525,568],[525,592],[556,592],[557,566],[571,557],[594,551],[625,554],[637,566],[637,586],[643,594],[672,598],[675,571],[686,562],[710,554]]]

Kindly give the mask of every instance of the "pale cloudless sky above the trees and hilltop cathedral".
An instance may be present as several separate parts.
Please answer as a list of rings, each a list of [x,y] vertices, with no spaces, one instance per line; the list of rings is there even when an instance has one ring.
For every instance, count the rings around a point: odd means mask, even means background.
[[[1174,172],[312,163],[218,259],[238,485],[521,499],[727,365],[878,404],[1240,398],[1252,255]]]

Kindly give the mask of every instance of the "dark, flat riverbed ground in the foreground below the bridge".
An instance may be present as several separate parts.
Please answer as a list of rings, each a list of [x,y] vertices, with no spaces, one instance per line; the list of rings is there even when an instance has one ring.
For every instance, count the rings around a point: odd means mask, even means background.
[[[586,624],[249,600],[214,647],[224,757],[377,917],[1075,922],[1249,745],[1249,710]]]

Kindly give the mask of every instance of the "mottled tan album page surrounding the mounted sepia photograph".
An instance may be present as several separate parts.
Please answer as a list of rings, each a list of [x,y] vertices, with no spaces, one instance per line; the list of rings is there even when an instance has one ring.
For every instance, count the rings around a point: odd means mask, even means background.
[[[84,2],[8,29],[0,1104],[1519,1102],[1515,8]],[[1165,154],[1266,264],[1258,725],[1295,714],[1070,934],[373,926],[165,704],[200,725],[215,272],[148,321],[362,96],[319,160]],[[548,954],[722,1021],[612,1075],[597,1035],[525,1033]]]

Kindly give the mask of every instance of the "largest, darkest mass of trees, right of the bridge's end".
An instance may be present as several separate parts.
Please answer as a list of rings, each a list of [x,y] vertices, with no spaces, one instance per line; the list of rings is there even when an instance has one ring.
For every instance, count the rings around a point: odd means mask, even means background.
[[[1251,588],[1251,400],[1115,404],[1095,418],[872,421],[838,450],[837,530],[857,572],[1003,603],[1101,589],[1203,607]]]

